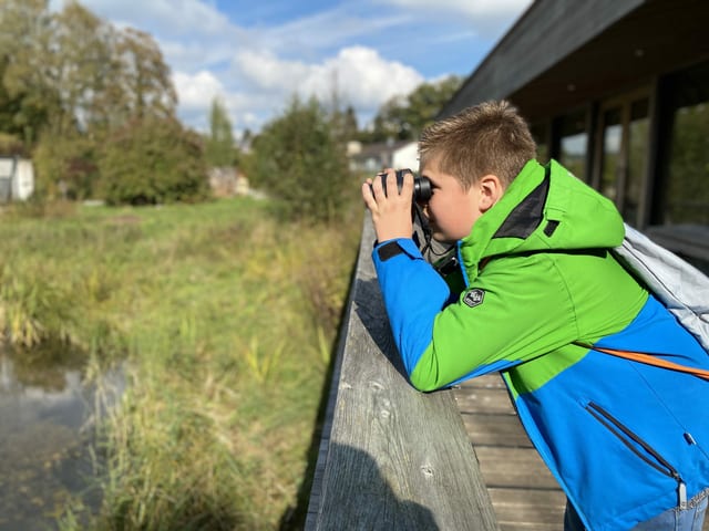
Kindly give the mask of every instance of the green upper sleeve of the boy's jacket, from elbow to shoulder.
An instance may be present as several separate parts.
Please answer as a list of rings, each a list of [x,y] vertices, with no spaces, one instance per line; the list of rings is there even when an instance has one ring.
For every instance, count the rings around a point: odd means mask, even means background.
[[[553,260],[544,254],[492,260],[434,316],[411,383],[421,391],[445,387],[512,368],[577,337],[576,309]]]

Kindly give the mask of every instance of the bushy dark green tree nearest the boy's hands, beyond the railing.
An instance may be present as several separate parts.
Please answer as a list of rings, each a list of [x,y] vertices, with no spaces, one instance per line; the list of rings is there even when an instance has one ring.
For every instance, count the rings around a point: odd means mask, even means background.
[[[281,200],[287,217],[317,221],[339,214],[349,177],[327,114],[317,100],[297,96],[254,139],[248,173],[255,186]]]

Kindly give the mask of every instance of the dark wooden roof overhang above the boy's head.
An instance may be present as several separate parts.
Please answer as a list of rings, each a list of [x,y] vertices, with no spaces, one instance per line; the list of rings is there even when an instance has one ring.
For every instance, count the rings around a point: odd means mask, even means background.
[[[706,0],[537,0],[439,117],[508,98],[530,122],[709,58]]]

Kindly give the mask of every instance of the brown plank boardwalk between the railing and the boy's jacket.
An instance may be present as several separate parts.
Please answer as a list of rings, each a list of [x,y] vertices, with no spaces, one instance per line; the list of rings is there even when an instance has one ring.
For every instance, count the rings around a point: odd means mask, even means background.
[[[522,428],[502,377],[470,379],[454,396],[501,531],[563,531],[566,497]]]

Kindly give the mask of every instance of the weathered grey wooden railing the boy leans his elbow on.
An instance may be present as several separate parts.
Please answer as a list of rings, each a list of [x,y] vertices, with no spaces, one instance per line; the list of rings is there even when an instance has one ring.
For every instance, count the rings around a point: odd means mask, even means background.
[[[306,530],[497,530],[453,395],[408,382],[364,221]]]

